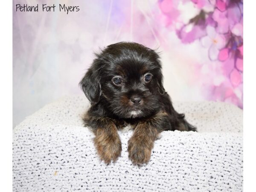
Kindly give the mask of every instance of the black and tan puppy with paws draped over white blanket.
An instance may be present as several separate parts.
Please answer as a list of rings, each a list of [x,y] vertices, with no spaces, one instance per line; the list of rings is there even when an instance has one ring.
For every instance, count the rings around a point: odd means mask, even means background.
[[[120,156],[117,130],[127,125],[134,130],[128,141],[134,164],[150,160],[160,132],[196,131],[172,106],[163,87],[159,55],[141,44],[109,45],[96,54],[80,85],[91,102],[84,124],[92,128],[94,145],[105,163]]]

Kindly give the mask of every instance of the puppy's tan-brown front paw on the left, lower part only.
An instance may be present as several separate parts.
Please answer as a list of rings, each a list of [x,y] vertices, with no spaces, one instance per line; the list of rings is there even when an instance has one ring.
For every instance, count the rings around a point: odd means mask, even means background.
[[[105,163],[115,162],[121,155],[122,145],[119,137],[96,137],[94,145],[101,160]]]

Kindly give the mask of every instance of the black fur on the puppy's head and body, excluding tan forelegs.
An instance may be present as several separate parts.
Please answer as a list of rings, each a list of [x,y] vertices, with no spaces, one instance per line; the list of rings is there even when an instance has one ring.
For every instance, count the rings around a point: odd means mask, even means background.
[[[152,76],[151,81],[145,81],[146,74]],[[121,78],[122,84],[114,84],[113,77]],[[148,122],[157,133],[196,131],[185,120],[184,114],[177,113],[172,106],[163,87],[159,55],[141,44],[120,42],[109,45],[96,54],[80,85],[92,104],[84,122],[94,131],[106,126],[100,118],[105,118],[107,123],[113,122],[116,128],[129,123],[135,129],[138,124]],[[131,102],[133,97],[141,99],[138,105]]]

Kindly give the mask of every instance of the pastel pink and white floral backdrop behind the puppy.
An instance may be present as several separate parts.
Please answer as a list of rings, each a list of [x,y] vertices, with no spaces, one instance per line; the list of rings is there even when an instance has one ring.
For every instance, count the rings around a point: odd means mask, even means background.
[[[17,3],[80,11],[16,12]],[[243,0],[14,0],[14,126],[61,96],[82,94],[93,52],[119,41],[160,52],[172,100],[243,108]]]

